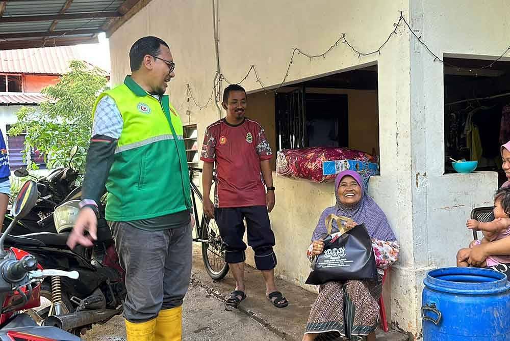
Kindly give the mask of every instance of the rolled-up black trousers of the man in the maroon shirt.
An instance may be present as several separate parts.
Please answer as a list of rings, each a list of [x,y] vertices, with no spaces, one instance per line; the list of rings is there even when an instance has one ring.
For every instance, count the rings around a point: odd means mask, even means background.
[[[246,219],[248,245],[255,252],[257,269],[271,270],[276,266],[274,233],[266,206],[216,208],[214,216],[223,239],[227,263],[246,260],[244,250],[247,246],[243,241]]]

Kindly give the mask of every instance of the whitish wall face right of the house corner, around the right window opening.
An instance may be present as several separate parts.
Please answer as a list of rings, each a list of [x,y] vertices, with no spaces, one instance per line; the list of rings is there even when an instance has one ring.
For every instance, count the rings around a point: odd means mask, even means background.
[[[508,46],[507,22],[501,18],[509,14],[510,7],[504,0],[410,2],[413,29],[440,58],[452,54],[496,59]],[[392,284],[405,287],[409,280],[416,282],[417,289],[406,291],[400,304],[412,306],[412,302],[417,302],[413,310],[418,311],[426,271],[455,264],[453,252],[466,247],[472,238],[466,231],[465,220],[473,207],[492,202],[497,176],[495,173],[443,175],[443,65],[434,61],[434,57],[414,38],[411,39],[410,56],[407,72],[410,73],[412,122],[413,232],[408,246],[414,251],[411,259],[402,260],[398,269],[402,275],[393,276]],[[409,308],[399,308],[392,302],[392,309],[392,314],[405,314]],[[416,316],[416,322],[410,319],[408,323],[416,324],[416,333],[420,333],[419,316]]]

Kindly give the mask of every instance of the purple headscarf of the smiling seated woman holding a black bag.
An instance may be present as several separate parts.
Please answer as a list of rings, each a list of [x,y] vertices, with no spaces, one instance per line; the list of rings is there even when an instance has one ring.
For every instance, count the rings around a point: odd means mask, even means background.
[[[354,178],[354,180],[356,180],[356,182],[358,182],[361,187],[361,200],[358,202],[358,204],[352,207],[348,207],[342,204],[338,196],[338,186],[340,185],[340,181],[342,181],[342,179],[346,176]],[[374,200],[366,193],[363,181],[361,180],[361,177],[358,173],[354,171],[343,171],[338,174],[337,178],[335,179],[335,197],[337,198],[337,204],[333,207],[326,208],[322,212],[319,218],[319,222],[317,223],[317,227],[314,230],[312,240],[319,240],[323,233],[327,233],[327,228],[324,220],[331,213],[351,218],[359,224],[364,223],[368,230],[368,234],[372,238],[385,241],[396,240],[386,215],[384,212],[382,212]],[[339,231],[336,221],[333,221],[332,227],[332,231]]]

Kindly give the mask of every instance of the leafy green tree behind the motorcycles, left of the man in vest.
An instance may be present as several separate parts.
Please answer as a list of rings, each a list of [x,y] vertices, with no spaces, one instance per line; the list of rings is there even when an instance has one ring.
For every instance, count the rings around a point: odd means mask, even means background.
[[[47,101],[39,107],[24,106],[16,112],[17,123],[9,135],[25,135],[24,159],[29,169],[37,169],[27,155],[37,150],[48,168],[67,166],[69,151],[78,146],[72,167],[85,170],[85,158],[92,130],[92,107],[97,95],[107,89],[107,73],[82,61],[71,61],[69,72],[41,93]]]

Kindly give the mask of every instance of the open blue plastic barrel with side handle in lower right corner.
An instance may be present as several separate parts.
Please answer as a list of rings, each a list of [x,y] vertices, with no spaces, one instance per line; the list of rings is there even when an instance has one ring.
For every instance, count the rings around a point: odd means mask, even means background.
[[[510,341],[510,282],[494,270],[442,268],[423,280],[424,341]]]

